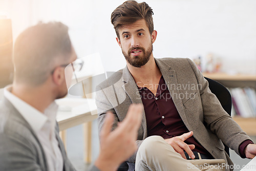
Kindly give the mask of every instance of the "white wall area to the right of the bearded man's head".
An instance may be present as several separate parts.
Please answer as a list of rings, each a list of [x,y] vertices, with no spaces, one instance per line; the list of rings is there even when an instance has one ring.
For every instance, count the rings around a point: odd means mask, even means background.
[[[256,1],[147,2],[155,11],[159,33],[156,56],[214,53],[222,58],[225,71],[256,73]]]

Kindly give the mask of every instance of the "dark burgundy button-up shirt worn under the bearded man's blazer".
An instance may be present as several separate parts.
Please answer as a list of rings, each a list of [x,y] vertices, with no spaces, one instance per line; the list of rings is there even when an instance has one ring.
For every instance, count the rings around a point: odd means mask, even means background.
[[[158,135],[168,139],[189,132],[176,109],[163,76],[160,78],[156,96],[146,87],[138,88],[138,90],[144,106],[148,137]],[[210,155],[193,136],[184,142],[194,144],[196,147],[193,151]],[[244,148],[249,143],[252,142],[246,140],[240,145],[241,155],[244,155]]]

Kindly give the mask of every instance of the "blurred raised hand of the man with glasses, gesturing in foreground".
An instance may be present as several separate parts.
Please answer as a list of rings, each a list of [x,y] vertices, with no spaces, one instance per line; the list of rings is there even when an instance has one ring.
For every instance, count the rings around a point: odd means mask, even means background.
[[[106,114],[100,133],[101,152],[95,166],[102,170],[117,170],[118,166],[137,150],[137,136],[142,119],[141,104],[132,104],[125,119],[111,132],[114,116]]]

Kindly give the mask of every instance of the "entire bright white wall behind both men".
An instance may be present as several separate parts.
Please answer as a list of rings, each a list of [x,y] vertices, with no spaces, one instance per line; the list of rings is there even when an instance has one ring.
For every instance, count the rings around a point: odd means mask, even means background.
[[[154,11],[154,56],[221,57],[224,71],[256,73],[256,1],[145,0]],[[70,27],[78,56],[100,53],[105,71],[117,71],[125,60],[110,22],[124,1],[0,0],[9,13],[13,37],[39,20],[59,20]],[[139,1],[142,2],[142,1]]]

